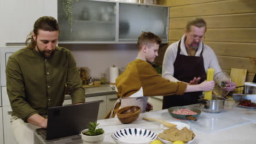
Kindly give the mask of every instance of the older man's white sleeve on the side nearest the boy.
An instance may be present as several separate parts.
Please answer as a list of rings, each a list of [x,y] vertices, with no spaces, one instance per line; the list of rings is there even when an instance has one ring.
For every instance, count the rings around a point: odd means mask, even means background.
[[[168,46],[165,52],[164,60],[162,62],[162,77],[172,82],[179,81],[175,77],[173,77],[173,74],[174,74],[173,64],[177,56],[177,51],[178,51],[178,42]]]

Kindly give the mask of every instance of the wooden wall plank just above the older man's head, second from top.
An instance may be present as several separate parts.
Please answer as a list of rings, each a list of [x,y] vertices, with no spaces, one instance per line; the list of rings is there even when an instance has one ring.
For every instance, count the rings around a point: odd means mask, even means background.
[[[227,5],[229,7],[227,7]],[[253,13],[255,0],[230,0],[170,7],[170,18],[219,14]]]

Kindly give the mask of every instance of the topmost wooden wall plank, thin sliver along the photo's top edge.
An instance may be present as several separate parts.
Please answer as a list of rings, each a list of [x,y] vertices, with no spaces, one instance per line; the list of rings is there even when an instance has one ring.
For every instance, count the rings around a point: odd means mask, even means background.
[[[206,2],[216,2],[223,0],[158,0],[158,4],[168,5],[168,6],[178,6],[178,5],[188,5],[188,4],[198,4],[198,3],[206,3]]]

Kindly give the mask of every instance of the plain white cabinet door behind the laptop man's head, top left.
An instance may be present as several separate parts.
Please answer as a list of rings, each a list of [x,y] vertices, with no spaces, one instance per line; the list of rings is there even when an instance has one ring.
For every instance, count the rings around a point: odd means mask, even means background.
[[[1,1],[0,14],[0,47],[7,47],[5,43],[25,43],[39,17],[47,15],[57,19],[57,1]]]

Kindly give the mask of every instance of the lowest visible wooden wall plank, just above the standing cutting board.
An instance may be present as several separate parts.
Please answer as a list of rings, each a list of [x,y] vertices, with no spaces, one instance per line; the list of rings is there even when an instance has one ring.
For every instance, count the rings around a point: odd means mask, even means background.
[[[249,58],[217,56],[222,69],[240,68],[247,69],[249,73],[256,73],[256,65]]]

